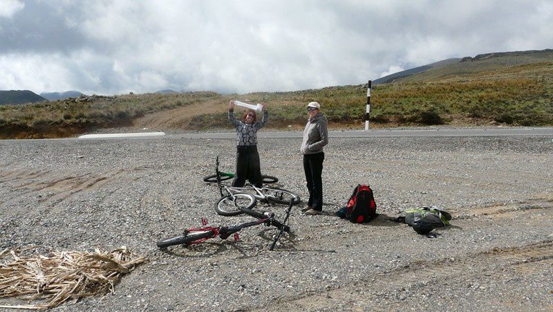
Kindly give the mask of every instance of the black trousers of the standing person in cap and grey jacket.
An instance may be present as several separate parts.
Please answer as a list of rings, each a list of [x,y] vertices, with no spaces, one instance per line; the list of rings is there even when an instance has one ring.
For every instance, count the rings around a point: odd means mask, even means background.
[[[306,172],[308,205],[315,210],[323,210],[323,173],[324,153],[303,155],[303,171]]]

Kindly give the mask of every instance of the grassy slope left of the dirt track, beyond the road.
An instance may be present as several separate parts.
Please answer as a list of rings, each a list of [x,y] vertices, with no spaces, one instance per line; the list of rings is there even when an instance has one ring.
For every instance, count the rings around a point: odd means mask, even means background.
[[[91,128],[130,125],[133,118],[153,111],[183,107],[218,96],[214,92],[92,95],[24,106],[0,106],[0,138],[71,136]]]

